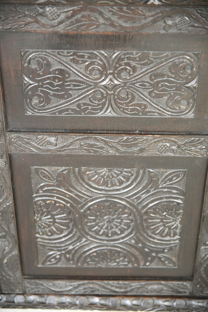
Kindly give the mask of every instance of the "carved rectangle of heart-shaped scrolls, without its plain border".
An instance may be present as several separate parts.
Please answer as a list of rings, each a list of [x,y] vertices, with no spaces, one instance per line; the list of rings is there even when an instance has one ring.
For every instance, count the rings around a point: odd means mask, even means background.
[[[193,116],[200,53],[22,51],[27,114]]]

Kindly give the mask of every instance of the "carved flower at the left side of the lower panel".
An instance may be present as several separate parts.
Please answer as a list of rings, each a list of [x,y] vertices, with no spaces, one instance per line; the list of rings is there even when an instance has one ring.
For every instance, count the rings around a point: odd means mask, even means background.
[[[51,236],[70,229],[72,219],[65,206],[54,201],[39,201],[34,209],[36,232]]]

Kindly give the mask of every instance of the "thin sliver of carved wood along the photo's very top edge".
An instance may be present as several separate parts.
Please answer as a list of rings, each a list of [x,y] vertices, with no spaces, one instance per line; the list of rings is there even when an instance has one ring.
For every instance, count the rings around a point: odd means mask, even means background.
[[[207,0],[1,0],[1,3],[94,5],[208,5]]]

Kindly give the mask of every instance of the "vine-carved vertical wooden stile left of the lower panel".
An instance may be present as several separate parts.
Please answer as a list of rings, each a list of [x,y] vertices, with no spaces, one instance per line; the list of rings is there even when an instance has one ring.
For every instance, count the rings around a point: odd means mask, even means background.
[[[0,104],[2,104],[0,88]],[[2,293],[21,293],[21,269],[12,198],[9,160],[5,146],[0,107],[0,289]]]

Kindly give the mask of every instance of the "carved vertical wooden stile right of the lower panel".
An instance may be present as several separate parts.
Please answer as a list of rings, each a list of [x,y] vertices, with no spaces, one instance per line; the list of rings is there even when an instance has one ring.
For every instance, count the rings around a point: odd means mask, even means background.
[[[201,232],[196,260],[196,273],[193,280],[195,295],[208,295],[208,173],[206,178]]]

